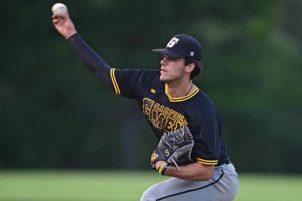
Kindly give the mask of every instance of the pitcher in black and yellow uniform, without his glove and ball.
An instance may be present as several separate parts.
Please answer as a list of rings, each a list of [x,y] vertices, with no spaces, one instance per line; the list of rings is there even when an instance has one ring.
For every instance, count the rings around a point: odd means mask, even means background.
[[[138,101],[159,140],[164,133],[176,131],[184,125],[192,133],[191,160],[184,160],[179,167],[157,160],[158,155],[151,156],[153,168],[172,178],[148,188],[142,201],[234,200],[238,192],[238,175],[221,140],[221,114],[192,82],[202,68],[202,48],[197,40],[180,34],[174,36],[164,49],[154,49],[164,55],[160,70],[119,70],[111,68],[87,46],[68,13],[59,17],[53,15],[52,19],[55,28],[87,68],[117,95]]]

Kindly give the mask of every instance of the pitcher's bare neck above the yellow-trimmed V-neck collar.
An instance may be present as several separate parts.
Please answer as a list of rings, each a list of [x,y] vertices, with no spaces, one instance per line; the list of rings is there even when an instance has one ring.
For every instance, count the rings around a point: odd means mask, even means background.
[[[195,90],[195,86],[192,80],[188,82],[172,82],[167,83],[167,90],[173,98],[180,98],[192,93]]]

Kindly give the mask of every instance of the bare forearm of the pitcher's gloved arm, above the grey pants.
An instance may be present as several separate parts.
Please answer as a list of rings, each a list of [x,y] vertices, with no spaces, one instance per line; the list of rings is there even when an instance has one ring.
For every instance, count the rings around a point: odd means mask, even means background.
[[[213,174],[214,167],[201,163],[193,163],[187,166],[179,166],[179,170],[174,166],[169,166],[165,170],[164,175],[187,181],[208,181]]]

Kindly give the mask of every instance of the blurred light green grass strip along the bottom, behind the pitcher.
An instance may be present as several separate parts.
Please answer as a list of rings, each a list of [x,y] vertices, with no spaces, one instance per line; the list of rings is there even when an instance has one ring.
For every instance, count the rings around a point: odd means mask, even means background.
[[[0,201],[139,200],[153,171],[0,171]],[[302,175],[240,174],[236,201],[302,200]]]

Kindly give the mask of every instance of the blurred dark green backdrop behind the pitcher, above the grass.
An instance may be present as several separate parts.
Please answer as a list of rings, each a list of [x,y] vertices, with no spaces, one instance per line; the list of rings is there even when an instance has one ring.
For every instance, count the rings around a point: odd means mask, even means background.
[[[150,171],[158,142],[136,101],[81,63],[52,25],[54,3],[3,3],[0,168]],[[194,84],[221,111],[239,176],[302,173],[302,1],[60,3],[113,68],[159,69],[151,50],[192,35],[204,50]]]

